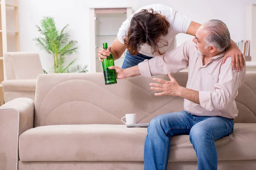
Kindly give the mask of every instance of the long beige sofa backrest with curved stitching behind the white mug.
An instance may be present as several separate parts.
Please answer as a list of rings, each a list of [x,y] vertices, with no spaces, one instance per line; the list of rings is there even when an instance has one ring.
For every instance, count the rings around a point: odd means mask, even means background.
[[[169,80],[165,75],[157,76]],[[186,87],[187,72],[173,74]],[[239,88],[236,122],[256,123],[256,73],[247,73]],[[35,127],[67,124],[123,124],[127,113],[137,113],[137,122],[146,123],[163,113],[183,111],[183,99],[154,96],[145,77],[119,79],[105,85],[102,73],[38,75],[35,93]]]

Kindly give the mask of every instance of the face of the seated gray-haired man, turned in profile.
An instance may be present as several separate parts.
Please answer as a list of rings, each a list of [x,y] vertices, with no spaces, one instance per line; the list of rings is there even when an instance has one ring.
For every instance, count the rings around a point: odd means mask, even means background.
[[[195,42],[196,50],[198,52],[201,52],[203,55],[208,55],[210,53],[210,47],[205,49],[205,42],[204,38],[207,35],[207,31],[204,31],[201,27],[198,28],[198,30],[195,33],[195,37],[193,38],[193,42]]]

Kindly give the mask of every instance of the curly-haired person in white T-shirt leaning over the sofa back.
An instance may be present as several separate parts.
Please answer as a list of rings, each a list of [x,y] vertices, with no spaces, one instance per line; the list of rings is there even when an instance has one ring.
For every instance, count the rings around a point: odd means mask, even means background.
[[[119,59],[127,48],[122,68],[138,65],[145,59],[163,55],[176,47],[175,35],[185,33],[195,36],[201,26],[188,17],[163,4],[144,6],[129,17],[119,28],[116,39],[107,50],[99,48],[98,57],[102,62],[105,56],[113,54],[114,60]],[[233,70],[242,70],[244,57],[236,43],[231,44],[224,56],[232,57]],[[236,67],[235,67],[236,66]]]

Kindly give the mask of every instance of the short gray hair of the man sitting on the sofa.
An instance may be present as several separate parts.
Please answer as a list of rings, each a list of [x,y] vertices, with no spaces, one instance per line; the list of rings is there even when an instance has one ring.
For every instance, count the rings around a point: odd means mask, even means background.
[[[203,24],[202,28],[208,32],[204,38],[205,48],[214,46],[217,51],[223,52],[229,47],[230,32],[221,20],[209,20]]]

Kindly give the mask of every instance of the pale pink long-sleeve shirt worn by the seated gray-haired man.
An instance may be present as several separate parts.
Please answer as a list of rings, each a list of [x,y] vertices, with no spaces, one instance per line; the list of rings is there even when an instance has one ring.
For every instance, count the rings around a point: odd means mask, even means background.
[[[225,52],[210,58],[203,65],[202,54],[197,53],[195,43],[189,40],[161,57],[146,59],[138,66],[140,74],[150,78],[189,67],[186,88],[199,91],[200,105],[184,99],[185,111],[197,116],[234,119],[238,115],[235,98],[245,78],[245,67],[239,72],[232,70],[231,57],[222,65],[224,54]]]

